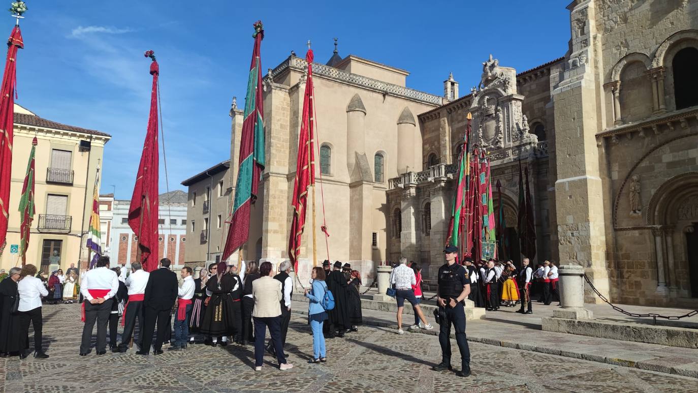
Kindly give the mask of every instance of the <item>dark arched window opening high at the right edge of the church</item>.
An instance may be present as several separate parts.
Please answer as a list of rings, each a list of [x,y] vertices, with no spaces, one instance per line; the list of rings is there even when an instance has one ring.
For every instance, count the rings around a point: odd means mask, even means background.
[[[676,109],[698,105],[698,49],[687,47],[679,50],[671,62],[674,70],[674,99]]]

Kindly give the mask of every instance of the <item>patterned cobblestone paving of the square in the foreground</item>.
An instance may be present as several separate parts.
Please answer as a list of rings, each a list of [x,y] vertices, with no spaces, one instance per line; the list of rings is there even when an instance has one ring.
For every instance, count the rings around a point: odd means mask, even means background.
[[[265,357],[253,370],[253,348],[189,346],[148,357],[87,357],[80,346],[79,306],[44,307],[50,359],[0,359],[2,392],[698,392],[698,380],[482,343],[470,343],[473,376],[431,371],[440,361],[435,336],[361,327],[327,341],[327,364],[307,364],[312,338],[293,317],[288,333],[290,371]],[[31,340],[30,340],[31,341]],[[460,359],[455,342],[453,365]]]

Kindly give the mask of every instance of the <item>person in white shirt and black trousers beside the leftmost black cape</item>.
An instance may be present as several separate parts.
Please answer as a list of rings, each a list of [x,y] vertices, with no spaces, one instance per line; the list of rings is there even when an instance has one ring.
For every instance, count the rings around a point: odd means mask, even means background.
[[[37,279],[36,266],[24,265],[20,273],[20,282],[17,283],[17,293],[20,295],[20,304],[17,311],[20,314],[20,359],[27,357],[24,348],[29,348],[29,322],[34,325],[34,357],[45,359],[41,345],[41,332],[43,321],[41,317],[41,297],[48,296],[48,291],[40,279]]]

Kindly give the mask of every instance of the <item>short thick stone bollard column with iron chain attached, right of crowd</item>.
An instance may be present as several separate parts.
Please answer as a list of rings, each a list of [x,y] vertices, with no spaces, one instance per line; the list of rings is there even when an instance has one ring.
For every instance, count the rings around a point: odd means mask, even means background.
[[[584,308],[584,267],[562,265],[560,275],[560,306],[553,310],[553,318],[591,319],[593,313]]]

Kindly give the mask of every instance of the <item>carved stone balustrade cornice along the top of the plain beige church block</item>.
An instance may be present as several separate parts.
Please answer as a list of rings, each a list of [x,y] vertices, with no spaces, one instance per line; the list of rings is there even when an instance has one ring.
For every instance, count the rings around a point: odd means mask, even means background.
[[[283,73],[288,69],[295,69],[297,71],[304,72],[306,68],[305,59],[300,57],[290,56],[284,61],[276,66],[271,72],[265,76],[265,80],[272,77],[272,80],[279,74]],[[406,98],[408,100],[417,101],[419,103],[426,103],[429,105],[443,105],[445,98],[441,96],[436,96],[434,94],[424,93],[424,91],[418,91],[415,89],[408,89],[407,87],[399,86],[397,84],[382,82],[370,77],[365,77],[362,75],[348,73],[342,71],[338,68],[326,66],[325,64],[313,63],[313,75],[319,77],[327,77],[330,80],[336,80],[346,84],[351,84],[353,86],[363,87],[364,89],[369,89],[373,91],[378,91],[380,93],[396,96],[400,98]]]

